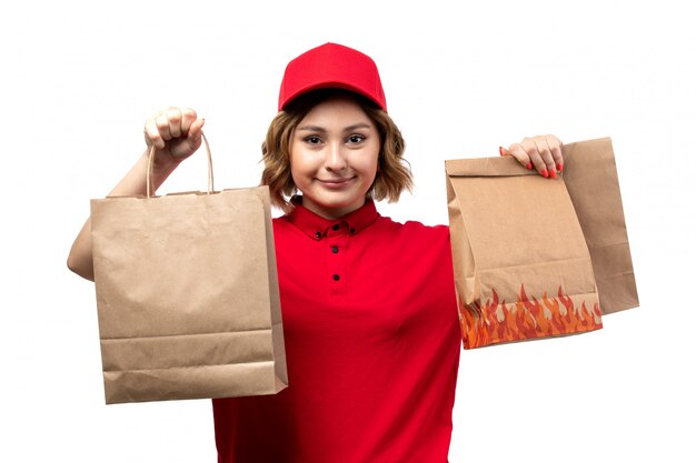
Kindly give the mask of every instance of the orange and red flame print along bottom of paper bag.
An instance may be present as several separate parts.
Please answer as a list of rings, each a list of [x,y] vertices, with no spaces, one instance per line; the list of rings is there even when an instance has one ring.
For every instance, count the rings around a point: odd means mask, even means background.
[[[458,299],[459,322],[465,349],[525,341],[564,334],[584,333],[601,328],[601,312],[597,303],[588,309],[585,301],[579,306],[571,296],[558,286],[558,296],[549,298],[545,292],[540,300],[525,292],[523,284],[517,302],[506,304],[493,299],[484,305],[479,302],[464,304]]]

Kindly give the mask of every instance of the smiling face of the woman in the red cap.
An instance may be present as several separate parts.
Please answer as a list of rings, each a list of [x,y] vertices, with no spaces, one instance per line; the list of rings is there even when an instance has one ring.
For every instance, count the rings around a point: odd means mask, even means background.
[[[290,171],[302,205],[326,219],[359,209],[375,181],[379,150],[375,123],[350,98],[314,107],[290,141]]]

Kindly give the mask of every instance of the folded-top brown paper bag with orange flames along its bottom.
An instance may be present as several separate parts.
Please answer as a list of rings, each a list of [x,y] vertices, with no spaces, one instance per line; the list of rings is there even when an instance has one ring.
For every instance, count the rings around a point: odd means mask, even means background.
[[[589,251],[563,181],[511,158],[446,161],[465,349],[601,328]]]

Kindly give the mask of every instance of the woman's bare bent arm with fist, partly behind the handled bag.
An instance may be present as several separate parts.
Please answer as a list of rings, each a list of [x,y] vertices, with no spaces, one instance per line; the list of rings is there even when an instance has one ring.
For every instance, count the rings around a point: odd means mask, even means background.
[[[179,163],[200,147],[203,123],[205,120],[198,119],[196,111],[190,109],[169,108],[149,118],[145,124],[148,149],[109,195],[146,194],[148,154],[151,147],[155,147],[152,187],[153,191],[157,191]],[[78,275],[95,281],[89,219],[72,243],[68,268]]]

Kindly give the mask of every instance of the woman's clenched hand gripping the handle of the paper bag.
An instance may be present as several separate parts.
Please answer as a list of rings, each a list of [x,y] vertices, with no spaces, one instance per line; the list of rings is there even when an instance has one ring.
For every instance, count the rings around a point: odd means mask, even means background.
[[[201,143],[205,119],[190,108],[158,111],[145,122],[145,142],[155,147],[155,165],[176,167],[190,157]]]

